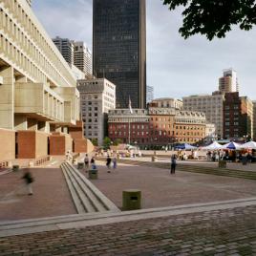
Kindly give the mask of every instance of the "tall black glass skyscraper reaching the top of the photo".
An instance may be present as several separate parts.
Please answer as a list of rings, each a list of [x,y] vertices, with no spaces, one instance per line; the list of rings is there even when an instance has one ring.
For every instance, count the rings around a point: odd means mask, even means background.
[[[146,105],[145,0],[94,0],[93,72],[117,85],[117,108]]]

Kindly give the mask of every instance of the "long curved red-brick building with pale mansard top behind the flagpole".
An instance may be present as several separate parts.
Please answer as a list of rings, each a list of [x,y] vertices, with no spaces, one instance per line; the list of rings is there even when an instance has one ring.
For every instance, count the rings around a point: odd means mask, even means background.
[[[121,139],[123,143],[130,141],[146,147],[202,141],[205,126],[203,113],[167,107],[135,109],[132,114],[129,109],[117,109],[110,111],[108,118],[110,139]]]

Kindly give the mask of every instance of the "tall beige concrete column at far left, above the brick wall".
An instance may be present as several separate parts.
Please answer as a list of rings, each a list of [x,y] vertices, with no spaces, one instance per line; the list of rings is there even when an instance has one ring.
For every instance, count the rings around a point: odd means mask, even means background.
[[[13,68],[0,71],[3,84],[0,85],[0,127],[14,129],[14,76]]]

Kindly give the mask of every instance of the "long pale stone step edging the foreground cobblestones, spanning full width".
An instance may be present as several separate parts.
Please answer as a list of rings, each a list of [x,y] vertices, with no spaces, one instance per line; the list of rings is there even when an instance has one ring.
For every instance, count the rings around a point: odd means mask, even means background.
[[[98,224],[115,224],[121,222],[161,218],[166,216],[183,215],[187,213],[246,207],[249,205],[256,205],[256,198],[212,203],[193,203],[126,212],[105,212],[32,219],[25,221],[0,222],[0,237],[32,234],[50,230],[82,228]]]

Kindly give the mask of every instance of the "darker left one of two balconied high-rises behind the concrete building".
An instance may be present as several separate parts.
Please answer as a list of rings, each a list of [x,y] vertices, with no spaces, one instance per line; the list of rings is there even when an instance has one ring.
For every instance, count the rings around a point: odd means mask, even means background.
[[[56,36],[53,38],[53,43],[58,51],[62,54],[70,66],[74,64],[74,44],[68,38],[60,38]]]

